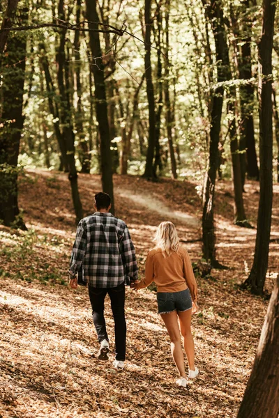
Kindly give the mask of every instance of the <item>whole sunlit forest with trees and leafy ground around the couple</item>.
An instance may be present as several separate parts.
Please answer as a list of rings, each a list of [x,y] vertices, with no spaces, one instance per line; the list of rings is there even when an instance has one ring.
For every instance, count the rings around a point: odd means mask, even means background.
[[[126,369],[98,362],[68,268],[100,191],[140,278],[160,222],[190,254],[186,389],[155,285],[126,289]],[[276,0],[1,0],[0,418],[278,418],[278,244]]]

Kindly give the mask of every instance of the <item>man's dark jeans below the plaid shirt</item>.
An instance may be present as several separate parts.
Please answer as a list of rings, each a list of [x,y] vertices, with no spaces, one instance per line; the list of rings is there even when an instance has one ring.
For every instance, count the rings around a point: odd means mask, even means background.
[[[105,327],[104,302],[107,293],[110,296],[112,314],[114,316],[114,334],[116,360],[125,360],[126,356],[126,320],[125,320],[125,285],[119,284],[114,288],[94,288],[88,286],[89,297],[92,307],[93,323],[96,328],[99,343],[107,339]]]

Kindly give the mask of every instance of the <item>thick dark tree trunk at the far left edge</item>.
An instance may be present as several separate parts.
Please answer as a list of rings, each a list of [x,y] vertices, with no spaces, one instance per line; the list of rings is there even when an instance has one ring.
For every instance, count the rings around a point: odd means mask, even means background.
[[[13,2],[13,4],[15,3],[17,2]],[[11,12],[12,15],[15,13],[15,8],[13,13]],[[9,22],[10,17],[8,18]],[[27,9],[20,11],[20,20],[22,24],[27,23]],[[6,22],[6,24],[9,23]],[[1,38],[1,42],[5,41],[5,44],[6,40],[7,38]],[[5,44],[1,45],[1,50],[3,50]],[[17,203],[17,175],[19,171],[17,160],[24,123],[22,107],[26,54],[27,34],[13,33],[8,38],[5,54],[1,57],[1,89],[3,96],[0,103],[0,219],[4,225],[13,225],[25,230],[27,228],[20,216]]]

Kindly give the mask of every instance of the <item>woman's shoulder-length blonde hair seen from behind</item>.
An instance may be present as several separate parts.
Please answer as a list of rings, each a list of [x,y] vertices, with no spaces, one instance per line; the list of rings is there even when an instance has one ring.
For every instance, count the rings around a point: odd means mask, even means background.
[[[179,250],[179,237],[172,222],[161,222],[158,226],[154,241],[156,248],[160,248],[163,256],[170,256],[172,251]]]

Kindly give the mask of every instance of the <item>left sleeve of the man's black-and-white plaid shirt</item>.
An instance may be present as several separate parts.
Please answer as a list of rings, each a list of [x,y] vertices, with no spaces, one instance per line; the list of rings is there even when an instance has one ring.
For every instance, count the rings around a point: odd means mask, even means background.
[[[84,230],[82,220],[77,225],[77,233],[75,235],[75,242],[73,245],[72,256],[70,258],[69,274],[75,277],[82,266],[84,255],[86,253],[86,231]]]

